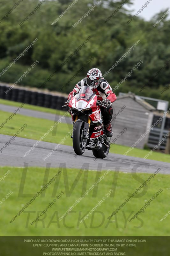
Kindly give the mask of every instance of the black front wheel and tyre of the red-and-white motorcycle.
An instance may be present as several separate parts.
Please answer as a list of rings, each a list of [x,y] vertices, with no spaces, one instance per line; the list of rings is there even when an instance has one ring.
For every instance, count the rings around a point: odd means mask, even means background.
[[[76,121],[74,123],[74,130],[73,130],[73,148],[74,148],[74,152],[78,156],[83,155],[87,145],[87,139],[82,138],[83,132],[84,132],[84,122]]]

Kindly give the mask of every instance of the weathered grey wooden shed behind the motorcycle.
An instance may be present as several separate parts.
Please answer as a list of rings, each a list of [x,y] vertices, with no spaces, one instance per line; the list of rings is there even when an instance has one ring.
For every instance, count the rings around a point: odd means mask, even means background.
[[[118,96],[112,107],[111,143],[130,147],[151,127],[155,108],[133,93]],[[136,148],[143,149],[148,136],[140,140]]]

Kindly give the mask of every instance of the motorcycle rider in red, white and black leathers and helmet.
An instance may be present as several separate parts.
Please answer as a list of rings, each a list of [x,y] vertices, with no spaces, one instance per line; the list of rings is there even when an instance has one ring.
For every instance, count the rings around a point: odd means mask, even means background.
[[[67,103],[71,100],[71,98],[77,94],[80,88],[84,85],[89,86],[93,93],[97,95],[97,100],[101,100],[102,104],[104,104],[107,108],[101,109],[101,114],[103,116],[103,122],[105,125],[105,131],[107,137],[112,137],[112,115],[113,108],[111,103],[116,100],[116,95],[112,92],[112,88],[108,84],[108,82],[102,77],[101,71],[98,68],[92,68],[87,72],[87,76],[83,78],[76,86],[73,91],[69,93]]]

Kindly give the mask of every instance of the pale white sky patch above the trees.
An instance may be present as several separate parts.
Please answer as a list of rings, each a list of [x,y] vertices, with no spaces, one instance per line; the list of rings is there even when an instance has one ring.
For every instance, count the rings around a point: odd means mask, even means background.
[[[145,20],[150,20],[156,13],[169,8],[170,10],[170,0],[133,0],[133,5],[130,7],[125,5],[128,10],[133,10],[132,14],[135,14],[147,1],[150,3],[146,8],[143,9],[143,12],[138,14],[138,17],[142,17]],[[170,15],[168,16],[170,17]]]

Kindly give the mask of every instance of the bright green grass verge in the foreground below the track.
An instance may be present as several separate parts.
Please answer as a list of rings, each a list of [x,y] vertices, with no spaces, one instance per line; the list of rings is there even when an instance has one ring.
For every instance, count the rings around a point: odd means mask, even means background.
[[[89,191],[60,221],[59,218],[79,199],[82,191],[85,193],[86,189],[89,189],[95,180],[99,179],[99,174],[102,176],[106,173],[104,171],[99,173],[97,171],[60,169],[61,174],[48,186],[44,194],[37,197],[20,216],[10,223],[11,219],[37,191],[41,190],[45,168],[28,167],[25,184],[21,179],[23,168],[0,167],[0,177],[8,170],[10,173],[0,184],[0,201],[2,202],[0,207],[3,212],[0,236],[39,236],[40,234],[41,236],[100,236],[101,234],[102,236],[169,236],[170,216],[163,221],[160,219],[169,211],[170,175],[156,174],[147,183],[147,186],[138,192],[137,196],[125,204],[111,220],[108,220],[108,216],[129,197],[129,193],[132,194],[151,175],[138,173],[140,179],[143,179],[139,182],[132,177],[131,173],[108,172],[98,187]],[[49,176],[46,176],[47,181],[52,179],[58,171],[58,168],[50,168]],[[117,181],[114,180],[115,174],[118,177]],[[21,192],[21,188],[23,188],[23,192]],[[163,192],[156,197],[155,193],[160,188]],[[113,197],[106,196],[110,189],[114,191]],[[10,191],[13,193],[5,198]],[[31,225],[30,223],[40,216],[40,213],[47,208],[49,203],[53,202],[61,191],[64,194],[56,200],[48,212],[40,217],[39,221]],[[152,196],[155,196],[153,202],[137,218],[129,222],[129,219]],[[5,201],[2,201],[3,198]],[[101,204],[89,215],[88,219],[80,223],[82,217],[89,213],[99,201]]]

